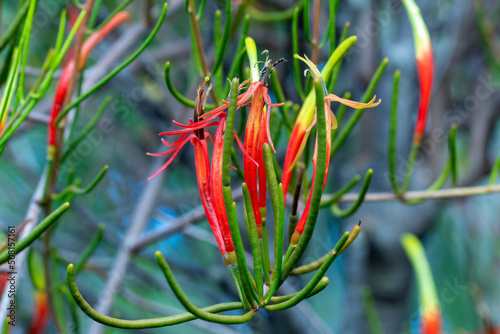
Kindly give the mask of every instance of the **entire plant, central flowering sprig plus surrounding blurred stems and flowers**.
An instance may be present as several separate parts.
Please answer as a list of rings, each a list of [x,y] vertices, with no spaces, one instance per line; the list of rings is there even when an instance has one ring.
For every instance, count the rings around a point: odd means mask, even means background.
[[[492,169],[488,186],[456,188],[458,166],[455,126],[450,130],[449,159],[441,175],[424,191],[407,191],[414,162],[425,138],[434,72],[430,34],[413,0],[403,0],[403,4],[414,33],[420,80],[420,106],[409,154],[409,165],[402,180],[398,180],[396,124],[400,72],[397,71],[394,75],[389,133],[389,175],[393,192],[386,194],[368,193],[373,174],[371,169],[366,172],[358,193],[349,191],[361,180],[359,175],[354,176],[337,191],[324,193],[329,172],[335,172],[330,168],[332,159],[351,136],[365,110],[380,103],[380,100],[376,100],[374,91],[388,62],[384,59],[380,63],[359,99],[360,102],[350,100],[348,92],[342,97],[333,94],[342,61],[356,43],[355,36],[349,37],[349,23],[344,25],[339,34],[340,38],[337,39],[335,20],[338,0],[329,1],[329,21],[324,25],[326,33],[323,39],[320,39],[320,0],[314,2],[314,13],[309,12],[310,0],[299,1],[281,12],[262,12],[252,1],[236,3],[226,0],[224,15],[221,10],[217,10],[214,14],[214,48],[211,55],[206,53],[208,49],[202,38],[206,35],[200,30],[206,1],[197,3],[194,0],[186,0],[185,12],[189,19],[194,58],[192,68],[199,76],[196,84],[201,82],[201,85],[197,92],[191,92],[196,94],[195,99],[184,96],[175,87],[175,81],[172,79],[171,72],[176,68],[172,67],[170,62],[166,62],[164,67],[166,86],[182,105],[190,108],[193,118],[187,124],[174,121],[176,129],[160,133],[165,137],[162,143],[167,150],[149,154],[168,158],[150,178],[173,164],[181,149],[191,144],[194,149],[193,165],[198,191],[204,211],[204,217],[199,219],[208,221],[239,300],[207,307],[193,304],[189,299],[189,293],[185,293],[175,279],[167,260],[157,252],[157,262],[171,290],[186,309],[186,313],[153,319],[124,320],[105,315],[108,310],[95,310],[83,298],[76,280],[78,273],[100,243],[103,225],[100,225],[79,260],[67,266],[67,282],[58,277],[57,265],[64,263],[66,266],[70,261],[58,254],[58,250],[51,242],[51,235],[56,228],[59,228],[57,220],[67,212],[75,197],[91,192],[107,171],[107,166],[104,166],[85,187],[82,187],[82,181],[75,177],[74,170],[69,171],[67,177],[62,177],[64,162],[97,124],[110,98],[102,103],[90,122],[77,133],[75,124],[82,102],[94,96],[98,89],[140,56],[151,44],[166,17],[165,4],[156,25],[150,29],[151,32],[141,46],[90,89],[82,91],[86,61],[90,53],[112,31],[121,29],[130,17],[124,10],[131,2],[132,0],[121,2],[118,8],[97,26],[95,23],[102,1],[88,0],[85,5],[73,1],[79,7],[79,13],[72,22],[70,32],[65,38],[66,11],[63,11],[55,45],[47,52],[41,74],[28,90],[26,87],[30,82],[25,80],[27,55],[38,1],[20,2],[12,23],[0,36],[0,52],[5,49],[5,61],[0,72],[0,86],[3,88],[0,103],[0,155],[11,139],[19,134],[19,129],[31,117],[31,112],[42,98],[49,95],[49,88],[55,81],[53,79],[56,77],[56,71],[70,46],[75,42],[74,55],[69,57],[69,62],[55,85],[54,96],[50,97],[52,107],[47,122],[45,168],[33,192],[15,246],[15,252],[19,254],[16,266],[21,267],[25,261],[27,248],[35,240],[43,238],[43,252],[38,254],[36,249],[31,249],[27,259],[35,287],[34,299],[37,308],[33,328],[43,330],[41,327],[46,326],[50,314],[57,331],[64,333],[67,321],[66,312],[60,307],[63,298],[66,298],[66,304],[71,307],[74,323],[78,323],[75,303],[91,319],[120,328],[170,326],[195,319],[223,324],[245,323],[262,309],[280,311],[294,307],[304,299],[321,292],[328,285],[328,278],[325,277],[328,268],[356,239],[361,224],[356,224],[350,232],[345,232],[336,245],[333,245],[332,250],[323,257],[303,264],[301,261],[312,240],[320,209],[329,207],[334,216],[345,218],[355,214],[366,201],[399,199],[407,204],[415,204],[429,198],[471,196],[500,191],[500,186],[494,185],[500,170],[500,158]],[[145,1],[147,17],[150,6],[151,2]],[[291,62],[294,80],[288,81],[287,84],[294,82],[294,87],[291,89],[286,87],[288,88],[286,95],[284,85],[277,75],[278,64],[284,59],[273,62],[269,59],[268,52],[264,51],[265,59],[258,60],[256,44],[248,37],[249,25],[253,21],[290,21],[292,52],[287,57]],[[299,38],[300,30],[304,33],[304,43]],[[231,39],[234,39],[236,48],[229,56],[228,45]],[[322,63],[320,51],[327,42],[329,42],[328,57],[326,62]],[[306,55],[299,54],[303,44],[307,44],[311,49],[310,59]],[[248,63],[245,60],[246,56]],[[305,79],[301,62],[307,66],[308,75]],[[225,78],[230,80],[226,81]],[[339,103],[335,113],[332,111],[332,102]],[[354,109],[348,119],[347,108]],[[172,137],[175,138],[170,139]],[[279,152],[281,148],[286,148],[283,161],[280,161],[281,155],[276,154],[281,153]],[[440,189],[450,178],[450,174],[453,189]],[[352,204],[342,208],[340,205],[346,202]],[[271,228],[274,229],[274,233],[270,233]],[[274,240],[270,240],[271,234],[274,235]],[[135,242],[133,245],[124,243],[128,255],[161,236],[149,239],[139,236],[138,240],[135,240],[137,235],[133,237]],[[251,262],[247,262],[250,256],[246,256],[244,248],[244,241],[247,240],[251,246]],[[421,251],[415,246],[415,241],[412,238],[405,240],[405,248],[412,262],[416,264],[417,275],[431,277],[428,266],[421,265],[422,260],[419,259]],[[9,261],[10,255],[6,244],[2,244],[0,263]],[[123,273],[123,266],[126,266],[127,261],[116,261],[115,268],[119,273]],[[423,270],[425,275],[422,274],[422,268],[425,269]],[[315,272],[314,275],[300,291],[281,294],[279,289],[290,276],[312,272]],[[111,273],[110,281],[116,276],[121,277]],[[431,282],[428,278],[422,281],[427,283],[421,284],[421,287],[429,286],[428,282]],[[113,291],[110,293],[110,300],[115,290],[110,289]],[[422,298],[422,303],[428,304],[424,299],[427,300]],[[0,318],[5,318],[7,308],[4,306],[10,302],[10,297],[4,291],[0,301]],[[431,324],[425,325],[429,328],[428,332],[438,332],[441,328],[441,319],[436,305],[432,306],[435,309],[431,310],[433,311],[431,315],[427,312],[428,305],[423,306],[425,312],[422,312],[422,318]],[[234,312],[231,315],[221,314],[232,310],[239,310],[239,314],[234,315]],[[78,332],[78,326],[76,327],[75,332]],[[8,330],[8,325],[4,326],[4,330]]]

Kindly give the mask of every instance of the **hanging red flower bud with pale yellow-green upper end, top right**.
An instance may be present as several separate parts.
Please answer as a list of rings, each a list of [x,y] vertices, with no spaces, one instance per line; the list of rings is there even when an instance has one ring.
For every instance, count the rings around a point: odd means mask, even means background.
[[[418,78],[420,83],[420,105],[418,107],[417,123],[415,125],[414,143],[420,144],[427,124],[429,101],[432,92],[432,78],[434,74],[434,58],[429,31],[420,9],[413,0],[403,0],[403,4],[410,18],[415,39],[415,58],[417,60]]]

